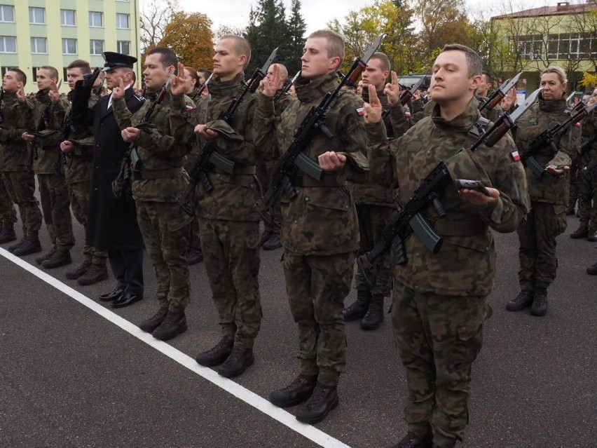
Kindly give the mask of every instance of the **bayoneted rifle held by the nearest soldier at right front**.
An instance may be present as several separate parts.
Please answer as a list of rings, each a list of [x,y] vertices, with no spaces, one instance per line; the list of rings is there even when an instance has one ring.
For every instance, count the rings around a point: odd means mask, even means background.
[[[481,144],[485,144],[486,147],[493,147],[495,143],[506,135],[508,130],[516,126],[516,121],[530,108],[530,105],[533,104],[540,91],[540,89],[535,90],[512,114],[509,115],[507,112],[504,112],[500,116],[500,119],[472,144],[469,150],[474,152]],[[461,149],[460,151],[463,150]],[[456,154],[460,153],[460,151]],[[423,182],[414,191],[406,204],[403,205],[399,202],[397,212],[392,216],[390,222],[386,224],[383,233],[376,242],[376,245],[373,246],[373,249],[357,257],[357,265],[369,285],[375,285],[376,271],[380,257],[387,250],[390,250],[390,247],[394,256],[394,264],[406,264],[408,260],[406,259],[404,241],[412,233],[415,233],[425,247],[433,254],[439,252],[444,240],[434,231],[427,218],[423,216],[423,211],[432,205],[440,218],[446,216],[446,210],[444,210],[441,201],[439,201],[439,196],[450,182],[452,182],[452,179],[446,162],[441,161],[423,179]]]

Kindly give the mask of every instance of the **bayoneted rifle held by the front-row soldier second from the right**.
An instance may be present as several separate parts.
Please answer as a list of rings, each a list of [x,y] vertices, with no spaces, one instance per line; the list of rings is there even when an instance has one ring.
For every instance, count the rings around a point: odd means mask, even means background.
[[[320,165],[313,161],[303,151],[309,146],[313,137],[318,132],[322,132],[328,139],[334,137],[334,133],[327,128],[325,125],[325,119],[329,109],[331,108],[332,102],[336,100],[342,88],[349,82],[355,83],[359,76],[367,66],[367,62],[371,58],[371,55],[375,53],[378,46],[383,39],[383,34],[380,35],[376,41],[371,44],[367,49],[366,55],[361,59],[357,57],[355,62],[352,62],[352,67],[348,73],[342,77],[338,86],[332,91],[325,94],[320,104],[313,106],[307,116],[303,119],[303,122],[299,126],[299,130],[293,137],[292,143],[284,156],[277,163],[276,169],[273,173],[272,182],[270,188],[266,194],[256,204],[255,208],[259,210],[259,215],[263,222],[272,222],[272,217],[269,213],[269,209],[276,203],[283,193],[289,199],[296,198],[296,190],[292,184],[291,178],[296,173],[298,167],[301,171],[305,172],[306,175],[313,177],[317,181],[322,179],[323,170]]]

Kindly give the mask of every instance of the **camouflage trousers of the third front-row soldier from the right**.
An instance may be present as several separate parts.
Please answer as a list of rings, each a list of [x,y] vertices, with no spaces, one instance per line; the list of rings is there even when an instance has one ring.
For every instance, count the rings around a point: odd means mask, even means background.
[[[261,327],[259,223],[199,220],[201,250],[222,336],[252,348]]]

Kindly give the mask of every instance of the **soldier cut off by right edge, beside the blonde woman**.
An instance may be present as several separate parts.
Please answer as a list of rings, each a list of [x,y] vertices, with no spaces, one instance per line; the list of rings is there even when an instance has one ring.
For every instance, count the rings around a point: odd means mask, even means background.
[[[586,142],[591,137],[597,135],[597,113],[591,112],[591,115],[582,121],[582,140]],[[586,177],[582,168],[597,163],[597,140],[593,140],[588,147],[582,149],[580,154],[577,171],[578,184],[578,216],[579,227],[572,233],[570,238],[585,238],[589,241],[597,241],[597,182],[596,177]],[[571,170],[572,172],[572,170]],[[570,174],[572,175],[572,174]]]

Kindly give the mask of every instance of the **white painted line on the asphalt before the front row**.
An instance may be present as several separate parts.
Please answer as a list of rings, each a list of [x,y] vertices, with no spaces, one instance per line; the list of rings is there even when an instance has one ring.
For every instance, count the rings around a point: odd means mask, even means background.
[[[291,430],[296,431],[303,435],[304,437],[312,440],[313,442],[319,444],[321,447],[325,448],[350,448],[347,444],[344,444],[338,439],[331,437],[327,433],[324,433],[322,430],[319,430],[311,425],[306,425],[305,423],[301,423],[294,415],[290,414],[289,412],[284,411],[284,409],[280,409],[279,407],[275,407],[272,405],[268,400],[265,398],[260,397],[256,393],[249,391],[249,389],[240,386],[240,384],[235,383],[230,379],[224,378],[224,376],[220,376],[214,370],[203,367],[198,365],[197,362],[188,355],[185,355],[181,351],[177,350],[176,348],[166,344],[163,341],[159,341],[155,339],[151,334],[143,332],[142,330],[137,327],[137,325],[133,325],[128,320],[121,318],[116,313],[113,313],[104,306],[98,304],[97,302],[93,301],[89,297],[81,294],[71,288],[69,285],[65,285],[60,280],[57,280],[53,276],[48,275],[48,273],[41,271],[41,269],[37,269],[35,266],[25,262],[24,260],[16,257],[15,255],[8,252],[8,250],[3,249],[0,247],[0,255],[4,258],[8,259],[9,261],[17,264],[18,266],[25,269],[29,273],[32,273],[37,278],[43,280],[44,282],[48,283],[48,285],[52,285],[60,292],[64,292],[69,297],[75,299],[80,304],[83,304],[90,310],[95,311],[95,313],[101,315],[103,318],[106,318],[114,325],[121,327],[125,332],[132,334],[132,336],[136,337],[137,339],[141,339],[144,341],[145,344],[155,348],[160,353],[163,353],[168,358],[178,362],[180,365],[183,365],[189,370],[192,370],[199,376],[207,379],[207,381],[211,381],[219,388],[224,389],[224,391],[231,393],[236,398],[247,403],[247,405],[251,405],[255,409],[259,409],[259,411],[263,412],[267,416],[270,416],[272,419],[275,419],[282,423],[284,426],[287,426]]]

